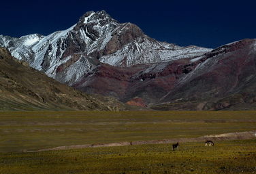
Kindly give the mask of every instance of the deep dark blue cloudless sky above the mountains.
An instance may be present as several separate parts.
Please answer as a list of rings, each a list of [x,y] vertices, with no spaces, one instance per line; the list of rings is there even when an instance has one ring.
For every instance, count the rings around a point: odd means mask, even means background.
[[[146,35],[177,45],[218,47],[256,38],[254,1],[2,1],[0,35],[48,35],[75,24],[87,11],[106,10]]]

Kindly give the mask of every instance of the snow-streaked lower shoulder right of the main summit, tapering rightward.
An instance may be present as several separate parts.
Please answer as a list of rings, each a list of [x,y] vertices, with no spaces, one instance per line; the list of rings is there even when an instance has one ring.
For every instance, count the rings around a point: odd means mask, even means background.
[[[210,50],[195,46],[178,47],[174,44],[161,43],[153,39],[140,37],[115,53],[102,56],[99,60],[113,66],[132,66],[135,64],[194,58],[202,56]]]

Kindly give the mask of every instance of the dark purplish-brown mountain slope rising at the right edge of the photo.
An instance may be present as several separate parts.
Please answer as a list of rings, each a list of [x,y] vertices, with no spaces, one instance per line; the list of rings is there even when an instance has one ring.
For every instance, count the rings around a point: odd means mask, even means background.
[[[156,109],[252,110],[256,108],[256,39],[244,39],[206,53],[187,64]]]

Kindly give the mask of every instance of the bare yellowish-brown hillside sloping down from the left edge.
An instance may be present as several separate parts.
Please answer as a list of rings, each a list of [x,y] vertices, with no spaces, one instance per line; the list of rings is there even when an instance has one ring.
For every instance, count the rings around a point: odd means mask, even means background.
[[[0,47],[0,110],[121,110],[61,84]]]

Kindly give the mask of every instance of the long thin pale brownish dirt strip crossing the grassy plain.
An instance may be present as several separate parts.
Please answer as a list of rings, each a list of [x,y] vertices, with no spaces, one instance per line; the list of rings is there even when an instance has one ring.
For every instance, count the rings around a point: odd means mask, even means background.
[[[56,148],[48,148],[35,151],[27,152],[43,152],[50,150],[69,150],[69,149],[80,149],[80,148],[100,148],[100,147],[114,147],[114,146],[131,146],[132,145],[142,145],[142,144],[172,144],[176,142],[204,142],[207,139],[212,141],[223,141],[223,140],[234,140],[234,139],[253,139],[256,138],[256,131],[246,131],[246,132],[236,132],[236,133],[223,133],[219,135],[205,135],[202,137],[193,138],[174,138],[174,139],[162,139],[162,140],[150,140],[150,141],[135,141],[135,142],[120,142],[120,143],[110,143],[110,144],[84,144],[84,145],[74,145],[74,146],[59,146]]]

